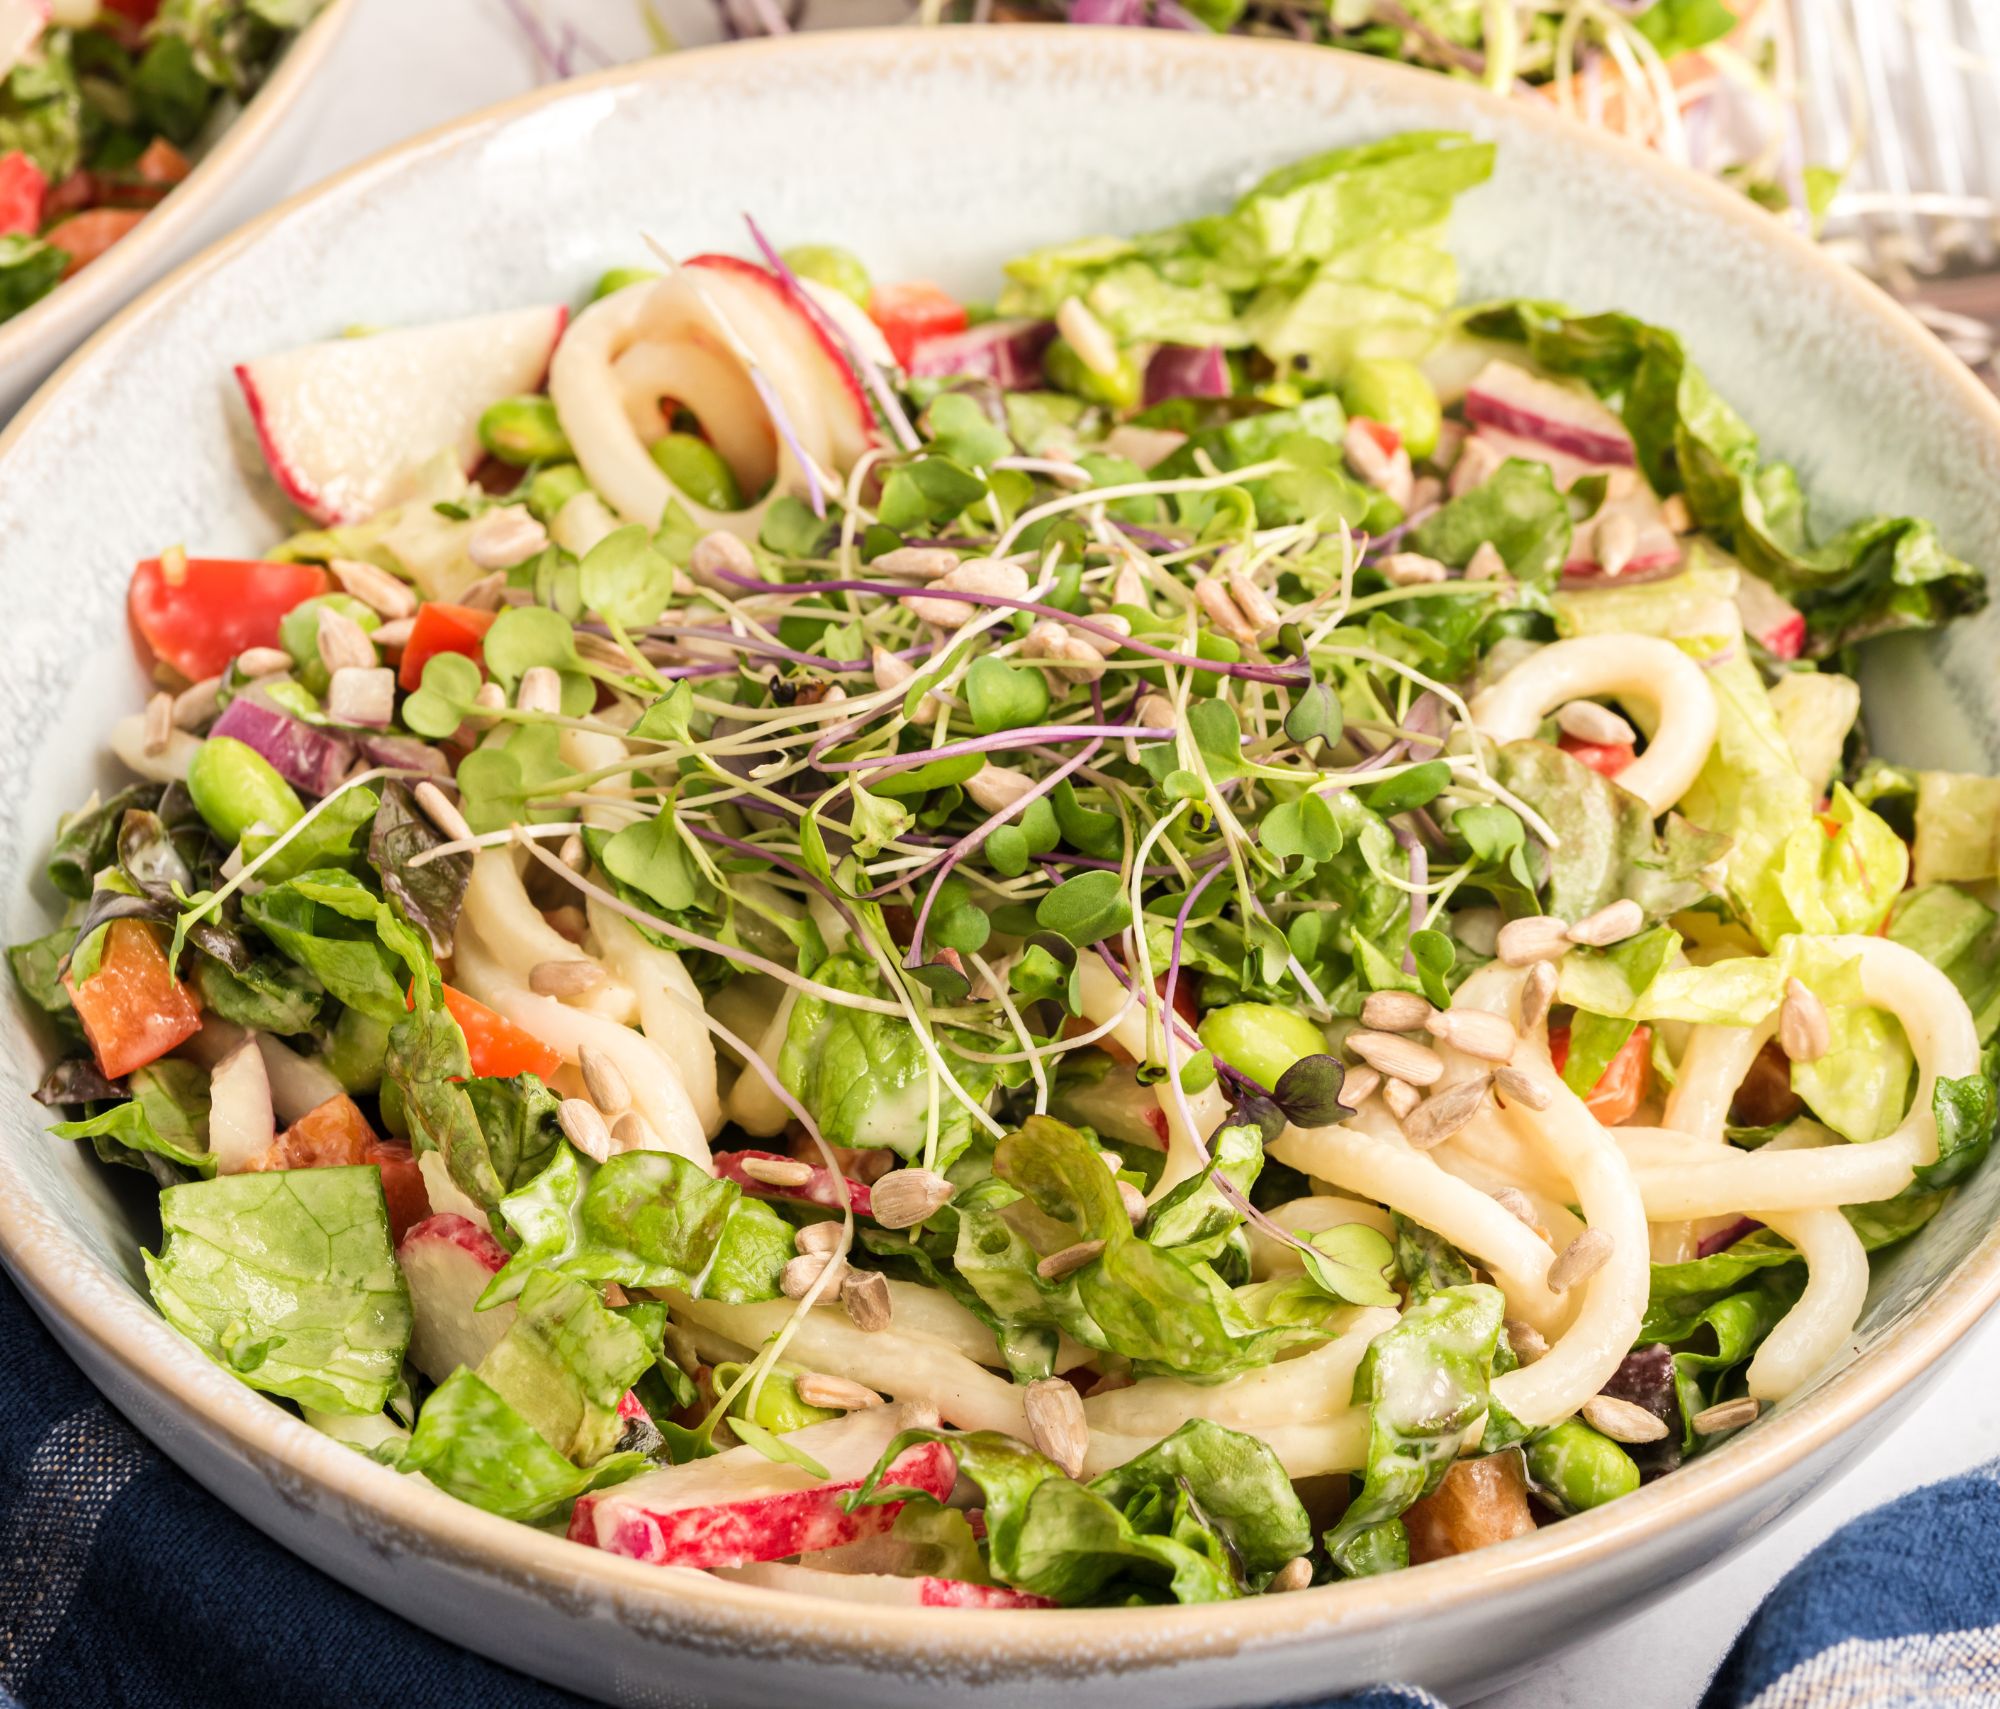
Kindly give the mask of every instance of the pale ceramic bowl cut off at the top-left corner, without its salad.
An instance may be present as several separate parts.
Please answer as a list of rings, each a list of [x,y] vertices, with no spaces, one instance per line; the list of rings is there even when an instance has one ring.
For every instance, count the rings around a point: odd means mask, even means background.
[[[360,0],[328,0],[158,208],[34,308],[0,320],[0,422],[50,368],[170,266],[266,208],[332,90],[320,76]]]

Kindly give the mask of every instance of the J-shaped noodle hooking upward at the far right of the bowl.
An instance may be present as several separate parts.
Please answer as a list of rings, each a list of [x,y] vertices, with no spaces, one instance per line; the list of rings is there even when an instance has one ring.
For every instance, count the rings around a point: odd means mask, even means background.
[[[1860,961],[1862,995],[1902,1023],[1916,1055],[1910,1113],[1886,1139],[1794,1151],[1718,1151],[1708,1161],[1640,1163],[1646,1213],[1676,1217],[1762,1215],[1894,1199],[1914,1171],[1938,1159],[1930,1099],[1940,1079],[1976,1075],[1978,1029],[1958,989],[1912,949],[1890,939],[1822,939],[1842,959]]]

